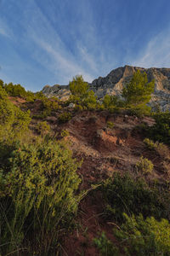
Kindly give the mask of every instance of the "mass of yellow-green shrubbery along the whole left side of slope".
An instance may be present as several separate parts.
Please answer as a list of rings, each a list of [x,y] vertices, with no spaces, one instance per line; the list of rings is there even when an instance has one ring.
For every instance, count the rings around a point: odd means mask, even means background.
[[[37,125],[42,137],[35,137],[30,121],[0,86],[0,255],[53,255],[80,199],[80,164],[64,141],[43,137],[46,122]]]

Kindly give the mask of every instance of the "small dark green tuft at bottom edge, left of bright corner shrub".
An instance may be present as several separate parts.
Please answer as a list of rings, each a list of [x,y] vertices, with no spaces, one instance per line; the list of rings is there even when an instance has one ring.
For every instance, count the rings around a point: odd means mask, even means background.
[[[94,238],[94,245],[99,248],[100,255],[120,255],[118,248],[114,247],[113,243],[105,236],[105,232],[102,232],[101,236]]]

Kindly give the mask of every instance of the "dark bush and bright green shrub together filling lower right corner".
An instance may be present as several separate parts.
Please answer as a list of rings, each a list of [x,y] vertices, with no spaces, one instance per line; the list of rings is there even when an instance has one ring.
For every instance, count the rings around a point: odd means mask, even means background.
[[[101,255],[170,255],[168,189],[120,174],[106,180],[100,189],[117,240],[113,244],[105,233],[96,237],[94,244]]]

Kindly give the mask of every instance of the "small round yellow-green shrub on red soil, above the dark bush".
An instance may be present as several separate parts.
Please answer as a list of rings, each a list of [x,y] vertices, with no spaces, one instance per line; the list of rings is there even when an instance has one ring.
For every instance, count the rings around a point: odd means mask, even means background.
[[[154,165],[147,158],[140,157],[139,161],[136,163],[137,172],[143,172],[144,174],[151,173],[153,171]]]

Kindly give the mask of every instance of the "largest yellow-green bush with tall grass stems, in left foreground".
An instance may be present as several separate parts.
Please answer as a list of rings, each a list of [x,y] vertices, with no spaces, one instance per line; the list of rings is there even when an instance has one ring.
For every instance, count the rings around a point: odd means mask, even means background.
[[[51,255],[59,229],[66,227],[77,211],[79,164],[64,143],[51,140],[16,143],[1,160],[0,236],[4,245],[0,253],[17,251],[32,237],[35,247],[28,248],[31,255],[32,250]]]

